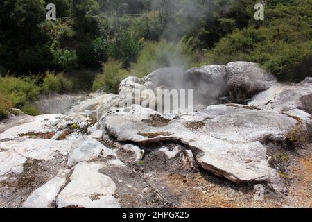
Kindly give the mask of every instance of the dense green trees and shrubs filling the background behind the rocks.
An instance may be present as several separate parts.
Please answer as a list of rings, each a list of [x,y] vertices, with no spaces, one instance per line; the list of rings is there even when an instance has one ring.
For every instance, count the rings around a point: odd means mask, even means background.
[[[144,76],[168,65],[248,60],[280,80],[311,76],[312,0],[268,1],[265,21],[254,20],[254,0],[51,0],[65,17],[55,22],[44,19],[47,3],[1,1],[2,73],[119,60]]]

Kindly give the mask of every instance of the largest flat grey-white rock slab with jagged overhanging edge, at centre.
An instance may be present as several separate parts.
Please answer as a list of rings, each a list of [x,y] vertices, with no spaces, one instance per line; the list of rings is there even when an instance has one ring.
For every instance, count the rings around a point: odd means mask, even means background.
[[[182,142],[192,148],[202,167],[233,182],[275,181],[277,173],[269,166],[261,142],[285,139],[297,123],[286,114],[243,105],[210,106],[196,116],[175,117],[162,127],[149,126],[140,114],[114,113],[102,121],[119,141]]]

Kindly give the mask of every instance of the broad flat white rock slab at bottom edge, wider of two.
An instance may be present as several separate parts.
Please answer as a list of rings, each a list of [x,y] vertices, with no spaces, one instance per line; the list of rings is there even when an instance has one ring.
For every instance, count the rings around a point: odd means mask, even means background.
[[[103,163],[82,162],[76,165],[69,184],[57,198],[57,206],[83,208],[119,208],[120,204],[112,196],[116,185],[108,176],[99,172]]]

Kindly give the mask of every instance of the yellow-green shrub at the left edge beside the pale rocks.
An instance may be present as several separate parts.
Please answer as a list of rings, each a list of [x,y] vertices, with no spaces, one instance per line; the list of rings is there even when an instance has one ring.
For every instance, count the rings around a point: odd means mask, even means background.
[[[16,107],[21,107],[27,101],[37,99],[40,94],[40,87],[36,84],[39,76],[13,77],[0,76],[0,94]]]

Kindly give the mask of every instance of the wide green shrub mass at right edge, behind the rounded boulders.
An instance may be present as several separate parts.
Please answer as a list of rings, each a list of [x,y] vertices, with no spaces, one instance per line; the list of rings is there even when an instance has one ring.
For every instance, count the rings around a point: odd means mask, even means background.
[[[223,37],[202,63],[237,60],[259,63],[279,80],[300,82],[312,71],[312,35],[302,21],[276,19],[268,26],[250,26]]]

